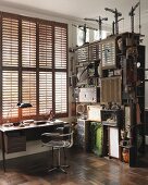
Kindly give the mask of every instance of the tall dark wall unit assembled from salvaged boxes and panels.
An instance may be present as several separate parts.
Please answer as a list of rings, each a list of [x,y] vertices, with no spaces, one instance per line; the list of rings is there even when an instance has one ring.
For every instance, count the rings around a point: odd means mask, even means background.
[[[131,166],[136,165],[138,152],[144,152],[145,145],[145,46],[140,46],[139,40],[139,34],[123,33],[75,49],[76,102],[102,107],[102,153],[112,156],[110,132],[118,131],[116,156],[123,161],[122,152],[128,150]],[[100,91],[96,94],[96,101],[87,95],[87,89],[94,87]],[[82,92],[81,88],[85,90]],[[116,113],[115,122],[109,122],[112,112]],[[104,114],[108,114],[107,119]],[[122,132],[126,134],[124,138]],[[130,144],[122,146],[124,139]]]

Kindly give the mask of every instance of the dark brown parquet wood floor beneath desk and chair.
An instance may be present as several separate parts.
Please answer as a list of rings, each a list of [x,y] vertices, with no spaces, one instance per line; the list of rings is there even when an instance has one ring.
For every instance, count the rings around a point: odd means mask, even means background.
[[[118,160],[71,149],[67,174],[48,172],[47,152],[0,163],[0,185],[147,185],[148,168],[130,168]]]

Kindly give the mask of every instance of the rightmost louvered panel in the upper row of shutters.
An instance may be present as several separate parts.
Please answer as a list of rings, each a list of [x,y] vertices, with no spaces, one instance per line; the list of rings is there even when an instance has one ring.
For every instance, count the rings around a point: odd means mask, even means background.
[[[66,69],[67,60],[67,29],[64,27],[54,27],[54,55],[55,69]]]

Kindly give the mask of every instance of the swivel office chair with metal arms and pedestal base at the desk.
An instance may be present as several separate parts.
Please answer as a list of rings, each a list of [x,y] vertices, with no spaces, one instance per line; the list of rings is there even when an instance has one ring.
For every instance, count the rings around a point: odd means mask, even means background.
[[[63,127],[58,127],[58,132],[55,133],[44,133],[41,134],[41,143],[42,146],[50,147],[52,150],[52,165],[51,169],[49,169],[49,172],[54,170],[60,170],[63,173],[66,173],[64,168],[67,168],[69,165],[62,165],[61,164],[61,149],[63,149],[64,152],[64,162],[66,161],[66,155],[65,155],[65,148],[71,148],[73,146],[73,131],[70,125],[65,125]],[[57,165],[53,165],[54,162],[54,150],[58,150],[58,163]]]

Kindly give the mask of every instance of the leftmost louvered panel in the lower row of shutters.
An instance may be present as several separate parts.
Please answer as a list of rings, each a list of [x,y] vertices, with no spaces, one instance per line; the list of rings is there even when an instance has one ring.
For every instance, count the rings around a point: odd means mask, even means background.
[[[2,118],[18,116],[18,73],[16,71],[2,72]]]

